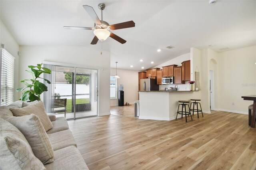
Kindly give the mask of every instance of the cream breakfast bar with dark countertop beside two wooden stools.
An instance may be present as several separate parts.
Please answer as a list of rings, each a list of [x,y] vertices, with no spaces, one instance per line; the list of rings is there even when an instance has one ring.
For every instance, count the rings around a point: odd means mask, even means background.
[[[198,91],[139,91],[139,95],[139,119],[163,121],[176,119],[179,100],[200,99]]]

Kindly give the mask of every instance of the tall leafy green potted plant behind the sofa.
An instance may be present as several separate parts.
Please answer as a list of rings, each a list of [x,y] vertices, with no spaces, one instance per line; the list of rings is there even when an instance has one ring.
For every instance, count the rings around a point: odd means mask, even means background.
[[[18,88],[16,91],[23,91],[22,96],[20,97],[20,100],[22,101],[39,101],[40,95],[44,91],[48,91],[47,86],[44,85],[44,83],[41,83],[38,79],[44,79],[42,77],[39,77],[42,73],[50,74],[51,70],[45,67],[42,67],[41,64],[37,64],[36,66],[34,65],[29,65],[28,68],[30,70],[26,70],[28,73],[32,75],[32,79],[24,79],[21,80],[21,83],[24,83],[26,87],[21,87]],[[51,84],[51,82],[47,79],[44,79],[48,84]],[[28,88],[28,89],[27,89]]]

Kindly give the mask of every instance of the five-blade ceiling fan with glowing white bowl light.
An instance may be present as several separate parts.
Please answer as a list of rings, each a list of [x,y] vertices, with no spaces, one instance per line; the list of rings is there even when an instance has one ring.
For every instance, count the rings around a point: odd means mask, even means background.
[[[101,10],[101,20],[98,18],[97,14],[95,13],[94,9],[91,6],[83,5],[83,7],[86,10],[86,12],[89,14],[89,16],[92,18],[92,20],[94,21],[94,28],[70,27],[70,26],[64,26],[63,28],[75,29],[75,30],[94,30],[95,36],[91,44],[96,44],[98,40],[104,41],[108,37],[111,37],[122,44],[126,43],[126,40],[118,37],[116,34],[110,32],[109,30],[118,30],[123,28],[135,27],[135,23],[133,21],[127,21],[119,24],[109,25],[106,21],[103,21],[102,19],[102,11],[105,9],[105,4],[103,3],[98,4],[98,8]]]

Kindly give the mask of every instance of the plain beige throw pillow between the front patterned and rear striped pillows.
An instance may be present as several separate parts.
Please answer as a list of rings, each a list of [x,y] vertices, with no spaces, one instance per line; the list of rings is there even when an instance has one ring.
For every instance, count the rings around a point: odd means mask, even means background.
[[[54,152],[38,116],[31,114],[22,117],[6,117],[6,121],[17,127],[28,140],[34,155],[43,163],[54,161]]]

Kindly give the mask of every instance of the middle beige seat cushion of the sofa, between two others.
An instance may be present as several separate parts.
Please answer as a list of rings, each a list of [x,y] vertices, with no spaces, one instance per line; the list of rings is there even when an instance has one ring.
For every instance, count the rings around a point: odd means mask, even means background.
[[[76,140],[73,137],[72,132],[68,130],[62,130],[60,132],[48,134],[53,150],[66,148],[68,146],[76,146]]]

